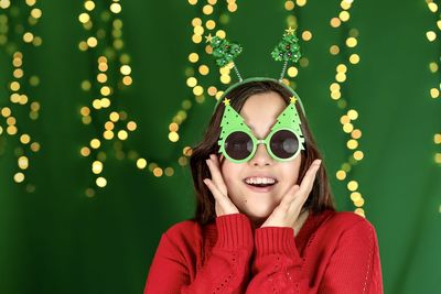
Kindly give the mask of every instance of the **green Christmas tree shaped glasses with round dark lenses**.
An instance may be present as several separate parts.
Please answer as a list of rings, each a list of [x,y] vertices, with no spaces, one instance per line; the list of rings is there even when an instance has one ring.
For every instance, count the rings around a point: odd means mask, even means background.
[[[248,162],[256,153],[258,144],[265,144],[267,152],[277,161],[290,161],[304,150],[304,138],[300,118],[295,110],[297,98],[292,97],[288,107],[279,115],[270,133],[257,139],[244,118],[225,99],[225,111],[220,122],[219,153],[235,163]]]

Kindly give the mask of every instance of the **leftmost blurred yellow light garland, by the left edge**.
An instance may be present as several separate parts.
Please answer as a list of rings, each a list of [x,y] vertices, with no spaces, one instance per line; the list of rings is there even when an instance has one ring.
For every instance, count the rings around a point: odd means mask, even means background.
[[[42,44],[42,39],[35,35],[33,29],[41,17],[42,10],[36,7],[36,0],[13,3],[10,0],[0,0],[0,46],[12,57],[13,66],[12,77],[8,83],[10,101],[1,102],[0,106],[0,122],[3,119],[6,121],[6,124],[0,123],[0,155],[6,152],[7,140],[3,135],[15,138],[18,141],[13,142],[17,144],[14,155],[18,157],[19,171],[13,175],[13,181],[26,183],[25,190],[29,193],[34,192],[35,186],[26,181],[25,171],[30,166],[31,154],[39,152],[41,146],[24,130],[28,124],[24,120],[25,116],[31,120],[39,118],[40,102],[32,99],[30,92],[32,87],[40,84],[40,78],[36,75],[25,75],[29,68],[25,68],[23,52]]]

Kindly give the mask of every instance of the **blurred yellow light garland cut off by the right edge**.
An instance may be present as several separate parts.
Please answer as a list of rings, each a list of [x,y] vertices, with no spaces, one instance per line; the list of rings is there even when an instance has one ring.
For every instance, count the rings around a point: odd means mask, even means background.
[[[429,40],[429,42],[434,42],[437,40],[437,32],[435,31],[440,31],[441,30],[441,14],[439,12],[439,7],[435,2],[433,2],[432,0],[426,0],[426,3],[428,6],[428,9],[430,10],[430,12],[432,12],[435,15],[435,20],[437,20],[437,26],[438,30],[431,30],[426,32],[426,36]],[[439,66],[440,66],[440,61],[441,61],[441,56],[437,56],[438,61],[434,62],[430,62],[429,63],[429,70],[432,74],[439,74]],[[432,99],[439,99],[440,98],[440,87],[441,87],[441,83],[439,83],[439,85],[437,85],[437,87],[433,87],[430,89],[430,97]],[[438,149],[441,146],[441,132],[434,133],[433,134],[433,143],[435,145],[438,145]],[[441,151],[435,151],[434,155],[433,155],[433,161],[437,164],[441,164]],[[441,205],[440,205],[440,213],[441,213]]]

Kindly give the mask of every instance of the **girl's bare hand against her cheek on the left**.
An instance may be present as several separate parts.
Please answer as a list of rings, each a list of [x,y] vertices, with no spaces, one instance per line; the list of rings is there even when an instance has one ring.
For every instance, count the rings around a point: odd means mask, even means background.
[[[220,173],[219,160],[215,154],[211,154],[209,159],[205,161],[208,165],[209,173],[212,174],[212,179],[204,178],[205,185],[212,192],[214,199],[216,202],[216,216],[238,214],[239,210],[229,199],[227,194],[227,186],[225,185],[224,177]]]

